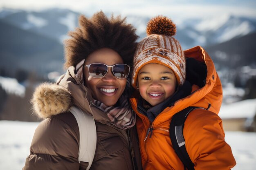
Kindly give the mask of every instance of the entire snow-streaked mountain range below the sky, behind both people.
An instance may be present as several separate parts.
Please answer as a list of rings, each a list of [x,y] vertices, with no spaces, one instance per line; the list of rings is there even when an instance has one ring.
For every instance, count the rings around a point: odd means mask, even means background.
[[[87,13],[83,14],[88,16]],[[58,8],[37,12],[4,8],[0,10],[0,19],[19,28],[54,38],[61,43],[67,38],[67,32],[78,26],[79,15],[69,9]],[[140,38],[146,36],[146,24],[149,19],[149,17],[139,15],[127,16],[127,22],[137,28]],[[176,38],[183,49],[196,45],[218,44],[256,31],[256,17],[245,18],[226,14],[211,18],[180,19],[174,22],[177,23]]]

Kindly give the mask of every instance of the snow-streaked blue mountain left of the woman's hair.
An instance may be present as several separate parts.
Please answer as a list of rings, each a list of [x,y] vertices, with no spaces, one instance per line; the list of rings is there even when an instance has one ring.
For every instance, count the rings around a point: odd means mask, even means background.
[[[47,9],[40,12],[2,9],[0,19],[21,29],[39,33],[62,42],[77,26],[79,13],[68,9]]]

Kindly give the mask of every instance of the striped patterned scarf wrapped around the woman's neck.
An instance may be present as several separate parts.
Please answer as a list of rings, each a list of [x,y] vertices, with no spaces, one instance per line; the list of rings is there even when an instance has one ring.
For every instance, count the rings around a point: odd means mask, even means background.
[[[76,65],[76,74],[79,76],[81,83],[83,82],[83,63],[84,60],[79,62],[79,64]],[[126,88],[124,90],[124,93],[121,95],[121,97],[118,100],[118,106],[106,106],[102,102],[99,102],[94,99],[94,105],[103,111],[103,113],[108,115],[108,118],[110,119],[111,124],[117,126],[120,129],[128,129],[135,125],[136,122],[136,115],[133,112],[129,97],[130,97],[130,80],[127,78],[126,81]]]

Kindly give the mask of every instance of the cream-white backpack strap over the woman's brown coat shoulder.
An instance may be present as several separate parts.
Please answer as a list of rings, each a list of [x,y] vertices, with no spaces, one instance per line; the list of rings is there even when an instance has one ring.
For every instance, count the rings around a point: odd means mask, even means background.
[[[72,106],[70,112],[76,118],[79,127],[79,156],[78,160],[88,162],[89,170],[94,158],[97,145],[96,125],[92,115],[84,113],[80,108]]]

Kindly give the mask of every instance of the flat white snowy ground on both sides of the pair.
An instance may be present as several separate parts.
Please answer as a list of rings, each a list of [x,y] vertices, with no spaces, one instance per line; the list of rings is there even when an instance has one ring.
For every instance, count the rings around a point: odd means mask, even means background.
[[[38,122],[0,121],[0,170],[21,170]],[[237,165],[232,170],[256,167],[256,133],[226,132]]]

